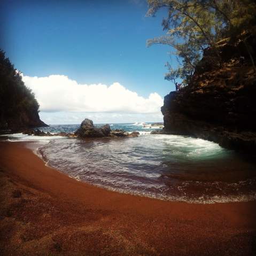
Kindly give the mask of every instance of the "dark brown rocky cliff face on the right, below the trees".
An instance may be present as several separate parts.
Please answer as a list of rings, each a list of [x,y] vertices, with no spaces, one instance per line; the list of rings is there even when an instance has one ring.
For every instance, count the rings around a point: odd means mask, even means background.
[[[255,37],[249,42],[255,59]],[[188,86],[165,96],[164,131],[255,152],[256,74],[250,56],[242,43],[224,44],[220,49],[221,68],[208,49]]]

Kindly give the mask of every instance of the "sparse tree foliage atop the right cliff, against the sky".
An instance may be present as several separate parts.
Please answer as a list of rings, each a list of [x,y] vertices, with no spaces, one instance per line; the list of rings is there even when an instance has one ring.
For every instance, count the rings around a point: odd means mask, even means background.
[[[161,24],[167,34],[148,40],[148,46],[170,45],[182,62],[177,69],[167,63],[167,80],[179,74],[185,83],[188,82],[204,49],[211,47],[218,57],[220,40],[227,37],[231,40],[248,30],[255,32],[256,4],[253,0],[148,0],[148,4],[148,16],[156,15],[160,8],[168,9]]]

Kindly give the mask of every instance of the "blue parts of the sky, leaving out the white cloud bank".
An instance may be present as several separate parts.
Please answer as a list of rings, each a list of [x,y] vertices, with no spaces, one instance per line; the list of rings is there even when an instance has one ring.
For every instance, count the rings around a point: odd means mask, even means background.
[[[147,9],[143,0],[1,1],[0,48],[27,77],[64,75],[77,84],[106,86],[118,82],[145,99],[154,92],[164,97],[174,89],[164,80],[170,49],[165,45],[147,48],[146,40],[165,34],[161,28],[165,11],[147,18]],[[43,110],[44,119],[55,116],[50,122],[58,122],[57,116],[64,114]],[[65,115],[67,112],[84,114],[81,109],[66,110]]]

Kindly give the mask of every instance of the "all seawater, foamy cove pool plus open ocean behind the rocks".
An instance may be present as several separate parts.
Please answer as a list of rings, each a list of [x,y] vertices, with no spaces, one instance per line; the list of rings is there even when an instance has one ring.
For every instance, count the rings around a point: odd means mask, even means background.
[[[151,135],[150,123],[110,126],[141,135],[77,139],[14,134],[8,140],[40,142],[37,153],[47,165],[110,190],[189,203],[256,199],[256,165],[244,156],[203,139]],[[78,127],[42,129],[58,133]]]

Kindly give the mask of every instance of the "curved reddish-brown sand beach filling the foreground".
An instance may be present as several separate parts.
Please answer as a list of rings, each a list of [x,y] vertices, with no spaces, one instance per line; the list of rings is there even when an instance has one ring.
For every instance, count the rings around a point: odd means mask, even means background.
[[[188,204],[79,182],[0,142],[0,255],[256,255],[256,202]]]

